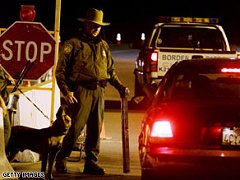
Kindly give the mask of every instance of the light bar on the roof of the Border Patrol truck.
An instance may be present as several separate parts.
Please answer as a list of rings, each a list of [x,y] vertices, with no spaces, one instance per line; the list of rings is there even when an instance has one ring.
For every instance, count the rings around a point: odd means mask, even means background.
[[[185,23],[207,23],[207,24],[218,24],[218,18],[200,18],[200,17],[168,17],[159,16],[157,22],[185,22]]]

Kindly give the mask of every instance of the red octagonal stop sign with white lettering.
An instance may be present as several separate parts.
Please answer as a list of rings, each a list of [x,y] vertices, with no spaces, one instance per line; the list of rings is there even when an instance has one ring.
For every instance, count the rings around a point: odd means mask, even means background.
[[[54,65],[55,43],[41,23],[16,21],[0,36],[0,63],[18,79],[30,61],[24,79],[37,80]]]

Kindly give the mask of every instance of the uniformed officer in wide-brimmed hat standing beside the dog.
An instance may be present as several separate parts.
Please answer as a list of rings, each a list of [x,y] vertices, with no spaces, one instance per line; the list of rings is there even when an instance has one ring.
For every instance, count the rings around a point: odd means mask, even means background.
[[[103,22],[103,12],[91,8],[87,11],[86,18],[78,20],[83,22],[83,31],[80,31],[78,37],[64,42],[56,68],[57,84],[64,97],[61,98],[61,105],[65,106],[73,122],[56,157],[55,167],[59,173],[67,172],[67,157],[86,125],[83,172],[104,175],[105,170],[98,165],[98,154],[105,87],[109,82],[121,97],[129,90],[118,79],[109,45],[99,35],[101,27],[110,24]]]

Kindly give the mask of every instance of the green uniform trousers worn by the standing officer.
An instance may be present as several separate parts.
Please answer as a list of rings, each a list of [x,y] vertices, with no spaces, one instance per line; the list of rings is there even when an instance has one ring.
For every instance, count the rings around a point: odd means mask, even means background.
[[[78,103],[66,105],[63,108],[72,118],[72,125],[63,139],[62,148],[56,159],[69,157],[75,142],[86,125],[85,155],[86,161],[97,161],[100,151],[100,134],[104,116],[105,89],[98,86],[96,90],[89,90],[78,86],[74,92]]]

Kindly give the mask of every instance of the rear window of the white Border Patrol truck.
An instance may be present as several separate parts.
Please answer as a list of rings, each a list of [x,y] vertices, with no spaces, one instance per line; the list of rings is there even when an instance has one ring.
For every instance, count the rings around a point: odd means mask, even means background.
[[[225,49],[223,37],[215,27],[163,25],[156,34],[154,41],[159,48]]]

